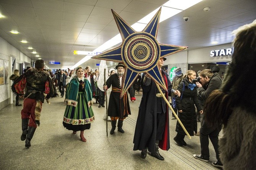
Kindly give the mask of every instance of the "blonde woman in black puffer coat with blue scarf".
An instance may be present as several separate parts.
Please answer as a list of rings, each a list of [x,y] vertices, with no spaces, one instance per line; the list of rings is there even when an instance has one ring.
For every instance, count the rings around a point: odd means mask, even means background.
[[[188,70],[178,86],[181,95],[176,98],[178,117],[190,136],[194,136],[194,132],[197,133],[196,109],[194,105],[196,105],[199,112],[203,114],[203,110],[198,101],[196,84],[192,83],[192,79],[196,79],[196,72]],[[186,142],[184,141],[186,133],[178,121],[175,131],[177,135],[173,140],[175,140],[178,146],[186,146]]]

